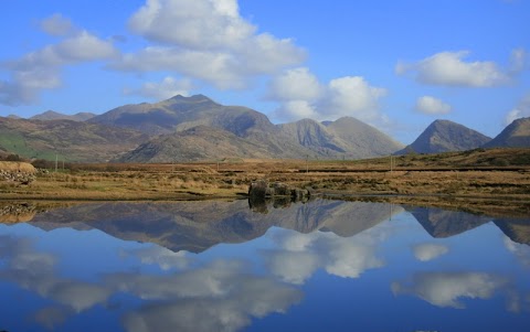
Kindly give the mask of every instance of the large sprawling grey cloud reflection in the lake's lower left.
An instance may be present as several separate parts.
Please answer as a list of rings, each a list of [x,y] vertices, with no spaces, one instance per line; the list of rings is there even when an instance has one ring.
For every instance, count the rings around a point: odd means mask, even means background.
[[[100,283],[71,280],[59,276],[57,258],[38,253],[31,239],[0,236],[0,280],[55,302],[33,314],[46,329],[55,329],[68,317],[104,304],[119,292],[144,300],[142,307],[123,318],[126,330],[134,332],[236,331],[253,318],[285,312],[303,298],[303,292],[289,285],[251,274],[241,260],[218,259],[187,270],[186,256],[163,248],[124,253],[136,255],[142,264],[181,269],[169,275],[116,272],[103,276]]]

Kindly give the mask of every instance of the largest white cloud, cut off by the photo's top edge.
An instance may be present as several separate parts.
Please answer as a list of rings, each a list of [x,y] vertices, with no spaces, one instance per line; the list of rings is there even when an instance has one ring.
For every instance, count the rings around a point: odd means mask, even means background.
[[[257,33],[236,0],[148,0],[129,29],[158,45],[125,54],[110,68],[170,71],[222,89],[245,88],[253,77],[305,58],[292,40]]]

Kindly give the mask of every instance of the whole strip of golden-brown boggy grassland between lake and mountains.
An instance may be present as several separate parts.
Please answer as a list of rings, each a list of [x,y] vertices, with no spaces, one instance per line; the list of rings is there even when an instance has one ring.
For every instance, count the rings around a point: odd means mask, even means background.
[[[368,160],[219,160],[70,164],[35,181],[0,181],[0,200],[140,201],[244,197],[266,179],[327,197],[488,206],[530,214],[530,149],[476,149]],[[508,207],[509,206],[509,207]],[[480,210],[480,208],[478,208]]]

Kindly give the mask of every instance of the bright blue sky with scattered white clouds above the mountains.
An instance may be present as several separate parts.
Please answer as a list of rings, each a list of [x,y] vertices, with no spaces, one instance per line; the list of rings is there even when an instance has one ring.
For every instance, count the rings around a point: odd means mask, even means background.
[[[530,117],[529,0],[10,0],[0,41],[0,116],[203,94],[403,143]]]

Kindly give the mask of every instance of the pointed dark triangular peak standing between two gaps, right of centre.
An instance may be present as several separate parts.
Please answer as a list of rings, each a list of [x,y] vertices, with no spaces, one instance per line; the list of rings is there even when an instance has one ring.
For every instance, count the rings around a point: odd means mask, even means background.
[[[491,138],[449,120],[435,120],[417,138],[398,154],[441,153],[473,150],[489,142]]]

